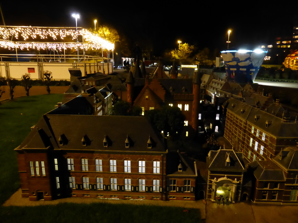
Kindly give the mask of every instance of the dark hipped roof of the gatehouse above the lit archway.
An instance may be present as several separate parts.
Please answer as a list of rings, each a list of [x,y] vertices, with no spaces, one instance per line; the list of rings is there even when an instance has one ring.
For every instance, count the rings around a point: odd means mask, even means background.
[[[226,149],[211,150],[208,158],[210,170],[244,172],[242,153]]]

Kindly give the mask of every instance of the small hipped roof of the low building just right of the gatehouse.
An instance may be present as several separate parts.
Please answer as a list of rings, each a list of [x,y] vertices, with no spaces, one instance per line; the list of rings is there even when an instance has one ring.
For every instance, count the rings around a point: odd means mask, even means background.
[[[285,181],[285,175],[271,160],[254,161],[257,168],[254,170],[254,176],[259,181]]]

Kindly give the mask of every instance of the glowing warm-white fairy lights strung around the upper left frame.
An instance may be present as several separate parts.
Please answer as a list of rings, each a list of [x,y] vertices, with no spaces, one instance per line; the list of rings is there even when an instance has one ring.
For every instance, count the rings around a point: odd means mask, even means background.
[[[82,36],[83,43],[63,43],[63,42],[34,42],[26,41],[28,39],[49,39],[53,40],[64,39],[70,36],[72,40],[77,40]],[[31,27],[31,26],[0,26],[0,47],[10,50],[45,50],[45,49],[85,49],[85,50],[98,50],[104,48],[108,51],[114,50],[114,43],[103,39],[90,32],[87,29],[78,27]],[[16,40],[23,39],[24,41],[10,41],[15,38]]]

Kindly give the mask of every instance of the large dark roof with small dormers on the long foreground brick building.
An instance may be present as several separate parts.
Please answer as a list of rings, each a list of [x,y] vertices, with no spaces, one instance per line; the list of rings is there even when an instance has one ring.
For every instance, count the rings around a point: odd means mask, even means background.
[[[43,138],[37,134],[37,129],[44,132]],[[67,143],[59,145],[63,134]],[[147,148],[149,135],[152,148]],[[83,137],[86,146],[82,145]],[[105,137],[109,139],[108,147],[103,145]],[[130,139],[128,148],[125,147],[127,137]],[[45,114],[19,148],[36,148],[45,142],[54,149],[166,153],[160,133],[143,116]]]

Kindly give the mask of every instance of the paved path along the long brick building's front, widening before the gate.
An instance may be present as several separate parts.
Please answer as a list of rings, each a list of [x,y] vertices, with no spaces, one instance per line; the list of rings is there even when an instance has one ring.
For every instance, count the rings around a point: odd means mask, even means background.
[[[207,206],[203,200],[198,201],[158,201],[158,200],[112,200],[85,197],[69,197],[53,201],[29,201],[29,198],[21,197],[21,190],[15,192],[3,206],[38,206],[56,205],[58,203],[114,203],[114,204],[134,204],[134,205],[157,205],[175,206],[183,208],[197,208],[201,211],[202,219],[206,223],[297,223],[298,206],[278,206],[278,205],[255,205],[252,202],[240,202],[229,205],[216,204],[207,201]],[[205,210],[207,210],[207,215]]]

